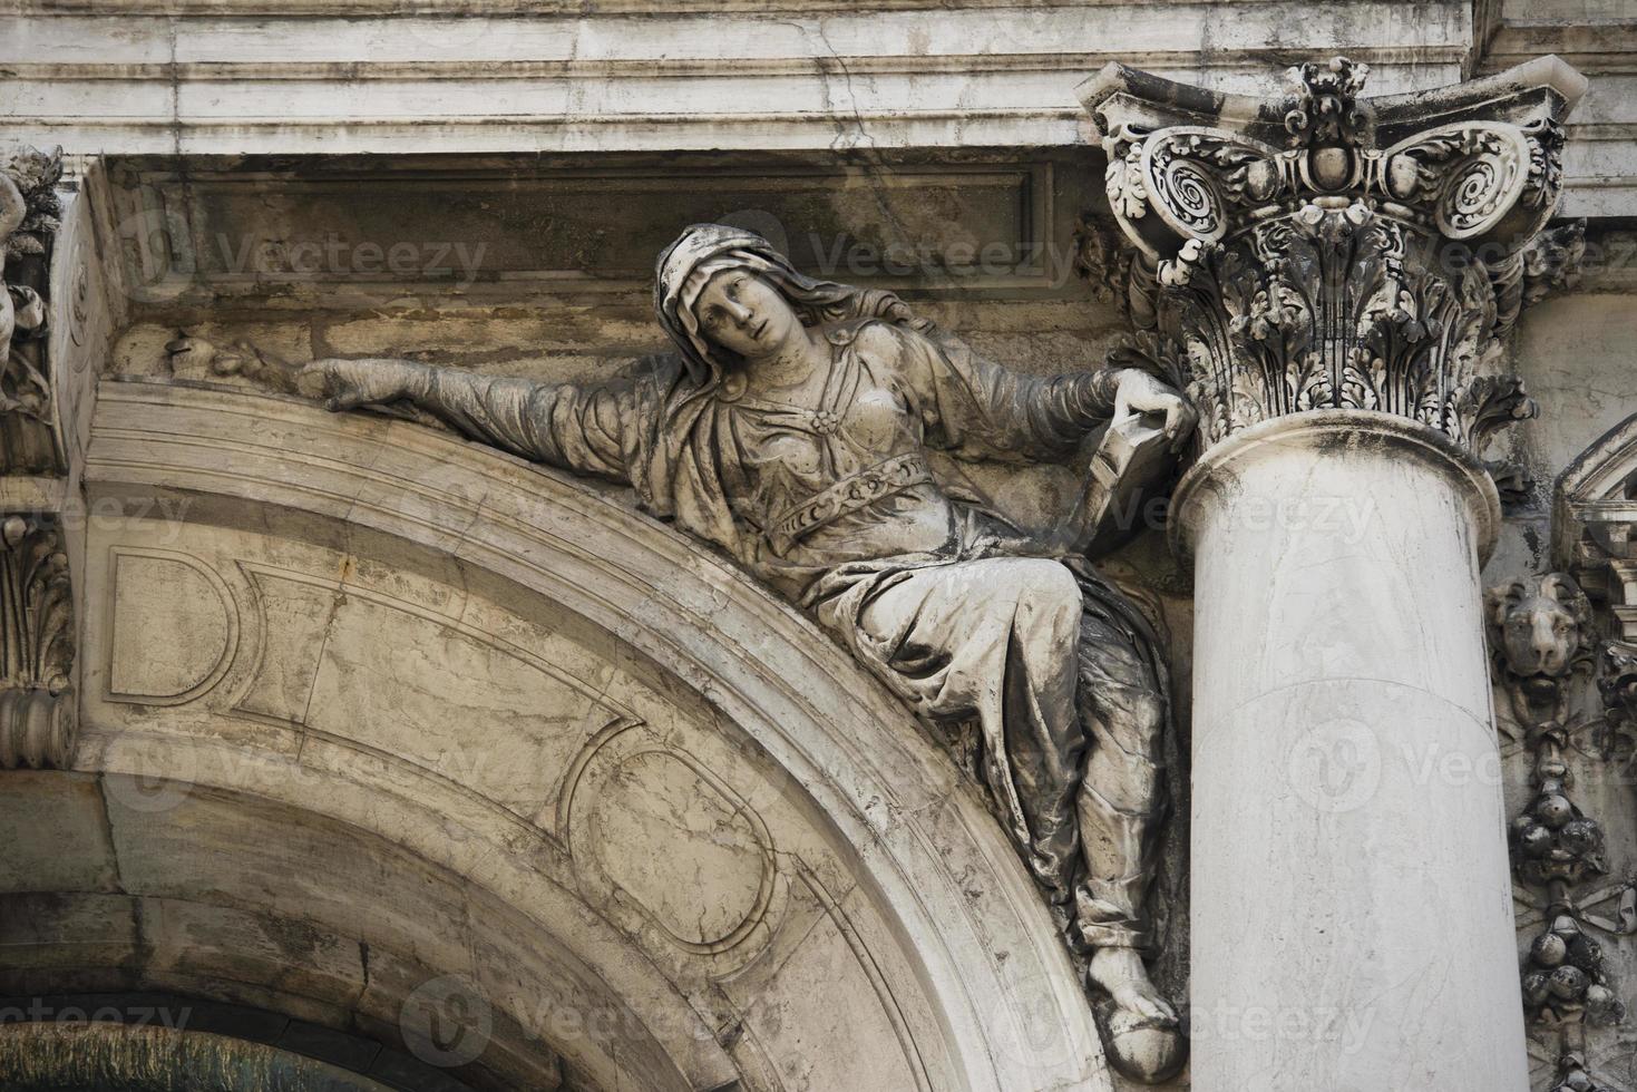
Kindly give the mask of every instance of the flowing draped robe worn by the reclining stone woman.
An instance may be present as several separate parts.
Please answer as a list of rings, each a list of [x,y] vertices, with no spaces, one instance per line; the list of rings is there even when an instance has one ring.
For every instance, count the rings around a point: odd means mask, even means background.
[[[1061,462],[1108,419],[1113,375],[1026,377],[877,318],[825,339],[815,408],[732,398],[676,357],[591,385],[439,372],[426,404],[524,458],[632,485],[925,720],[976,725],[969,761],[1071,943],[1146,946],[1167,715],[1149,624],[1085,558],[925,463],[928,449]]]

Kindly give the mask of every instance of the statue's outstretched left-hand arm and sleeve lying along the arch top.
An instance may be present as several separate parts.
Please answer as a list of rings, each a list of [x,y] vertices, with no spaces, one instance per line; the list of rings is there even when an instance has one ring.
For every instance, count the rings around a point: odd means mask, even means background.
[[[301,370],[303,393],[332,411],[413,404],[475,440],[575,473],[630,480],[635,383],[539,383],[414,360],[324,359]]]

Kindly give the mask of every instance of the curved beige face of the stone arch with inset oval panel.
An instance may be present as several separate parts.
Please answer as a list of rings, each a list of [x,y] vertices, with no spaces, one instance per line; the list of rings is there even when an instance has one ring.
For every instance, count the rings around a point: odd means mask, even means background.
[[[445,434],[157,383],[103,388],[87,483],[92,501],[187,490],[234,516],[92,529],[83,768],[183,774],[188,804],[246,792],[470,873],[534,922],[519,950],[656,999],[632,1027],[678,1084],[778,1087],[807,1051],[825,1087],[868,1087],[832,1079],[855,1064],[894,1089],[1112,1087],[982,799],[843,650],[681,535]],[[237,517],[267,508],[306,511],[355,562]],[[188,679],[110,679],[182,555],[228,583],[242,627],[221,681],[159,717],[129,691]],[[221,612],[213,581],[188,604]],[[221,629],[188,627],[208,629],[206,671]],[[525,972],[498,1012],[539,1009]],[[835,1035],[858,1049],[812,1053]]]

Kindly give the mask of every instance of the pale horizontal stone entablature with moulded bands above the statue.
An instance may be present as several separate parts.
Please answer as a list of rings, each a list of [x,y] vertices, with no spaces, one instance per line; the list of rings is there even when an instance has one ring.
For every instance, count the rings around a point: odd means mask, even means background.
[[[82,154],[404,154],[429,124],[445,152],[609,152],[1071,146],[1076,80],[1115,59],[1257,90],[1282,41],[1352,49],[1414,90],[1460,79],[1472,52],[1460,0],[1370,0],[1334,20],[1292,0],[1188,20],[1084,0],[447,10],[142,0],[113,16],[26,0],[0,20],[0,65],[26,103],[21,139]]]

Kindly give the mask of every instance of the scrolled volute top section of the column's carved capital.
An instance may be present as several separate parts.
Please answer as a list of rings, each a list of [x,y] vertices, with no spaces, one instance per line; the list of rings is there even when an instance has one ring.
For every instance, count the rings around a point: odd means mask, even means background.
[[[1249,231],[1308,203],[1346,208],[1352,201],[1370,201],[1375,214],[1414,231],[1514,250],[1545,226],[1562,188],[1560,116],[1578,87],[1558,67],[1562,74],[1547,70],[1563,77],[1550,90],[1504,83],[1517,102],[1483,98],[1491,82],[1478,80],[1375,106],[1357,100],[1367,65],[1337,57],[1328,69],[1295,69],[1300,97],[1259,105],[1257,120],[1242,129],[1156,128],[1156,118],[1133,115],[1125,102],[1141,74],[1120,65],[1105,69],[1082,93],[1103,126],[1115,216],[1154,259],[1175,257],[1188,241],[1220,242],[1231,234],[1229,224],[1234,232]],[[1521,74],[1514,69],[1496,80]],[[1108,95],[1110,88],[1120,90]],[[1544,93],[1531,95],[1537,90]],[[1190,106],[1208,110],[1184,95],[1177,105],[1179,116],[1197,113]],[[1280,111],[1277,123],[1267,116]],[[1478,111],[1496,116],[1472,116]],[[1220,113],[1220,121],[1234,118]]]

